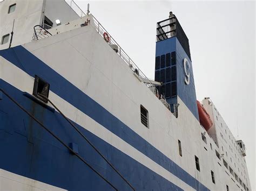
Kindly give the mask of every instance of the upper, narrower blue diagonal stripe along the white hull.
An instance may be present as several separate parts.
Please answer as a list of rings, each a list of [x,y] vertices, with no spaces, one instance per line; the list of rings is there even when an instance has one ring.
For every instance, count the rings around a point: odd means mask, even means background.
[[[29,75],[35,76],[37,74],[39,77],[42,77],[45,81],[50,83],[51,91],[55,94],[62,97],[65,101],[69,102],[80,111],[84,112],[84,114],[91,117],[100,125],[103,125],[106,129],[122,138],[126,143],[145,154],[147,157],[164,167],[167,171],[176,175],[191,187],[195,189],[201,188],[201,190],[208,190],[193,176],[184,171],[183,168],[179,167],[175,162],[166,157],[145,139],[140,137],[136,132],[132,131],[122,121],[113,116],[109,111],[92,100],[92,98],[84,94],[77,87],[73,86],[73,84],[68,80],[64,79],[64,77],[60,76],[57,72],[36,58],[36,56],[31,54],[22,46],[0,51],[0,55],[24,70]],[[63,89],[63,87],[65,87],[65,89]],[[48,120],[48,118],[44,118],[42,121]],[[108,153],[106,152],[106,154]],[[191,161],[191,163],[194,165],[194,161]]]

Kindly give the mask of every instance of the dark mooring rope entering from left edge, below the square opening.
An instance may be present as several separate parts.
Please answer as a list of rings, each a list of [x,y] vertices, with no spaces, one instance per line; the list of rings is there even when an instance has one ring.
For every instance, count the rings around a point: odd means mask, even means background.
[[[41,122],[39,122],[32,114],[30,114],[30,112],[28,112],[26,109],[24,109],[22,107],[21,104],[19,104],[18,102],[16,102],[14,100],[14,98],[12,98],[10,95],[8,95],[3,89],[0,88],[0,91],[3,92],[3,94],[5,94],[12,102],[14,102],[19,108],[21,108],[26,114],[28,114],[32,119],[34,119],[39,125],[42,126],[42,128],[44,128],[46,131],[48,131],[54,138],[56,138],[63,146],[65,146],[66,148],[68,148],[68,150],[72,153],[75,154],[80,160],[82,160],[84,162],[85,165],[87,165],[89,168],[92,169],[93,172],[95,172],[96,174],[98,174],[100,176],[100,178],[102,178],[103,180],[105,180],[114,190],[118,190],[116,187],[114,187],[112,185],[112,183],[110,183],[107,179],[104,178],[103,175],[101,175],[99,172],[96,171],[95,168],[93,168],[91,165],[89,165],[82,157],[80,157],[79,154],[77,154],[75,151],[72,150],[72,148],[70,148],[68,145],[66,145],[61,139],[59,139],[51,130],[47,129]]]

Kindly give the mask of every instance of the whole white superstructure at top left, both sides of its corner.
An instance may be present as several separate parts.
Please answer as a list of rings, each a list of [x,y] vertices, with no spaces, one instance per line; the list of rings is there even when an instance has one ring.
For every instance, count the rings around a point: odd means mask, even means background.
[[[16,3],[16,9],[8,13],[9,6]],[[62,23],[78,19],[79,16],[64,0],[6,0],[0,3],[0,49],[9,47],[12,26],[14,24],[14,36],[11,47],[29,43],[33,36],[33,27],[42,25],[44,15],[57,26],[56,19]],[[15,20],[15,22],[14,22]],[[2,37],[10,34],[9,41],[1,45]]]

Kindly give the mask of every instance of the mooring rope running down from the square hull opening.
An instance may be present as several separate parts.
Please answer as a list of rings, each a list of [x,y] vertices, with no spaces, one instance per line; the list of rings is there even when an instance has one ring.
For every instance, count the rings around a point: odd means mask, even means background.
[[[68,121],[68,122],[72,125],[72,127],[86,140],[86,142],[89,143],[89,144],[94,148],[94,150],[107,162],[107,164],[109,164],[109,165],[114,169],[114,171],[116,171],[116,173],[132,188],[132,190],[135,191],[135,189],[134,189],[134,188],[132,187],[132,185],[124,178],[124,176],[123,176],[122,174],[120,174],[120,173],[117,171],[117,169],[110,163],[110,161],[108,161],[108,160],[104,157],[104,155],[99,152],[99,150],[90,142],[90,140],[87,139],[87,138],[83,135],[83,133],[80,132],[79,129],[76,128],[76,126],[70,121],[70,119],[67,118],[67,117],[56,107],[56,105],[53,104],[53,103],[51,102],[51,100],[49,100],[48,97],[46,97],[46,96],[44,96],[44,95],[42,95],[42,94],[38,94],[38,95],[41,96],[42,98],[44,98],[45,100],[49,101],[49,102],[52,104],[52,106],[60,113],[60,115],[62,115],[62,116],[66,119],[66,121]]]

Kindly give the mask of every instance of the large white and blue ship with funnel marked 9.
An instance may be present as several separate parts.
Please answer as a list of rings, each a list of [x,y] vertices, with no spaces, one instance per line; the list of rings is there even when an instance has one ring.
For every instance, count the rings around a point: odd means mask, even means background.
[[[89,5],[2,0],[0,23],[0,190],[251,190],[172,12],[153,80]]]

